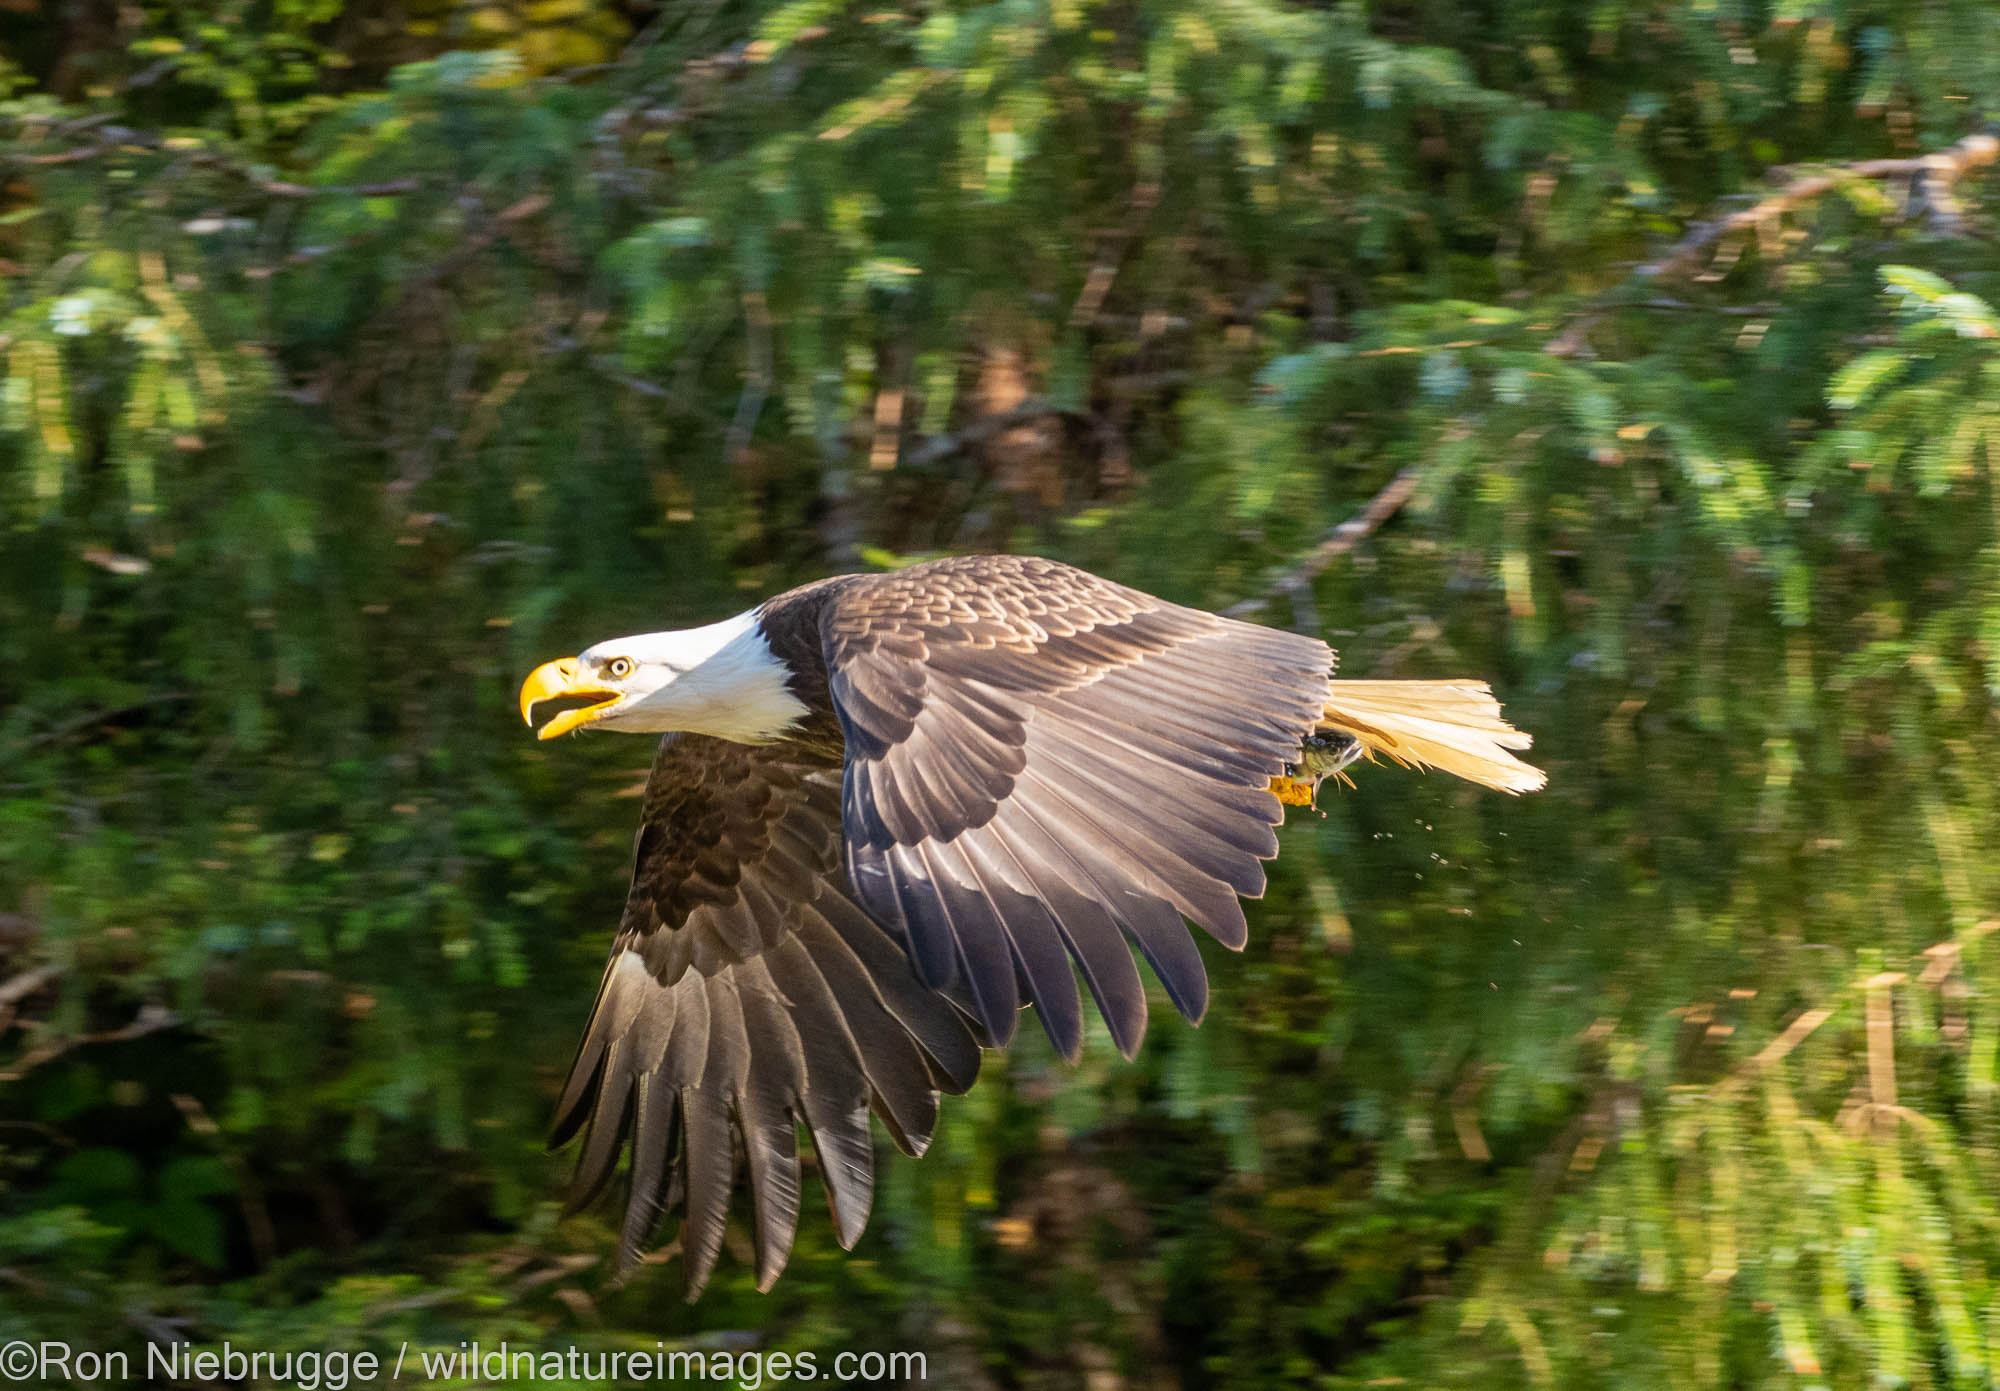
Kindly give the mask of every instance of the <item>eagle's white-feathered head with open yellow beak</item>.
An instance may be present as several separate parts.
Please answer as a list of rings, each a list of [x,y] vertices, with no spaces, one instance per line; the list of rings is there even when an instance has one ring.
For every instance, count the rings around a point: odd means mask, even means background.
[[[758,610],[750,610],[708,628],[612,638],[544,662],[520,688],[520,717],[532,725],[538,703],[582,697],[590,703],[562,709],[538,737],[592,725],[770,743],[806,713],[788,676],[764,640]]]

